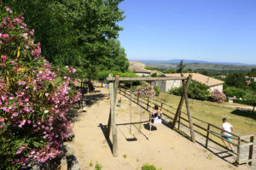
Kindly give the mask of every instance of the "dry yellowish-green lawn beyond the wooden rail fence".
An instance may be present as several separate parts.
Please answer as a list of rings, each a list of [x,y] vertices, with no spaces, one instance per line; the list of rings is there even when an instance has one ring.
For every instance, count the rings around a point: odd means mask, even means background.
[[[180,97],[169,95],[169,94],[160,94],[158,99],[161,101],[164,101],[166,104],[172,105],[173,107],[177,108]],[[217,103],[211,103],[208,101],[202,102],[202,101],[193,100],[192,102],[191,99],[189,99],[189,106],[190,106],[191,115],[196,118],[199,118],[205,122],[210,122],[218,127],[221,127],[222,119],[226,117],[228,119],[228,122],[230,122],[235,128],[235,131],[233,133],[236,133],[237,135],[241,135],[241,136],[247,135],[247,134],[254,134],[254,136],[256,136],[256,131],[255,131],[256,120],[251,117],[234,114],[237,112],[236,108],[229,108],[224,106],[224,104],[218,105]],[[163,106],[163,107],[169,111],[172,111],[172,113],[174,114],[176,112],[176,109],[172,109],[167,106]],[[186,112],[185,105],[183,105],[182,111]],[[174,117],[172,114],[167,113],[166,111],[164,111],[164,113]],[[187,116],[184,114],[182,114],[182,116],[184,118],[187,118]],[[189,125],[187,122],[184,122],[184,121],[181,121],[181,122]],[[196,121],[195,119],[193,119],[193,122],[200,125],[201,127],[207,128],[207,124],[203,122]],[[202,131],[200,128],[197,128],[197,127],[194,127],[194,128],[206,135],[205,131]],[[212,129],[212,130],[220,133],[219,130],[217,129]],[[210,135],[210,137],[214,139],[212,135]],[[219,139],[219,142],[220,142],[220,139]]]

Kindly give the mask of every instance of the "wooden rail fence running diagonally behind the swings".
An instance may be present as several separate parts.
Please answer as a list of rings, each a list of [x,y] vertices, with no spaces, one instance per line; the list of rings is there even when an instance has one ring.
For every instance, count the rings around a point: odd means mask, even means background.
[[[150,108],[153,105],[159,105],[160,109],[163,112],[162,117],[163,121],[172,123],[173,116],[175,116],[175,111],[177,108],[173,107],[172,105],[168,105],[160,100],[157,99],[148,99],[148,98],[140,98],[136,94],[130,91],[129,88],[119,86],[118,93],[125,96],[128,99],[131,99],[132,102],[136,103],[137,105],[142,106],[145,110],[150,111]],[[183,115],[187,116],[187,113],[184,111],[181,111]],[[209,141],[211,141],[214,144],[218,144],[218,146],[227,149],[221,140],[225,140],[227,142],[230,142],[236,147],[235,151],[232,151],[233,154],[236,155],[236,165],[242,163],[248,163],[250,166],[252,166],[253,162],[253,141],[254,136],[253,135],[246,135],[246,136],[239,136],[235,133],[230,133],[232,136],[230,137],[232,139],[231,141],[228,141],[227,139],[222,138],[221,131],[224,131],[221,127],[215,126],[212,123],[202,121],[199,118],[196,118],[192,116],[193,118],[193,125],[194,125],[194,131],[195,133],[198,133],[202,137],[206,139],[205,146],[208,147]],[[169,120],[169,121],[166,121]],[[189,128],[189,120],[185,118],[184,116],[180,116],[177,123],[177,130],[180,131],[180,125],[183,125],[183,127]],[[227,132],[229,133],[229,132]]]

